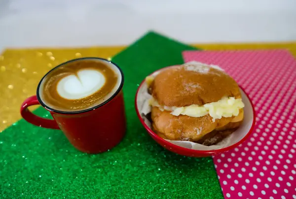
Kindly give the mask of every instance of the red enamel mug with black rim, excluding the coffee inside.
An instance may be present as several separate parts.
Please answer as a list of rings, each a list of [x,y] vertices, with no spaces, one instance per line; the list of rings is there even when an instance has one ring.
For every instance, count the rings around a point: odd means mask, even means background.
[[[106,61],[117,67],[120,71],[121,82],[116,92],[105,102],[93,108],[76,112],[58,111],[48,107],[40,98],[39,87],[42,80],[52,70],[66,63],[78,60],[96,59]],[[111,149],[125,135],[126,118],[123,101],[123,73],[113,62],[98,57],[77,58],[62,63],[50,70],[39,82],[37,94],[26,99],[21,105],[21,115],[28,122],[44,128],[61,129],[69,142],[75,148],[86,153],[100,153]],[[28,107],[41,105],[50,112],[54,119],[45,119],[29,111]]]

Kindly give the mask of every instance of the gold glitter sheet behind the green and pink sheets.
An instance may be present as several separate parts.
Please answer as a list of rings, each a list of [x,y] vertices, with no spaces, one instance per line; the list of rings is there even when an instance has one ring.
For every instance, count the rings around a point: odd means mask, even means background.
[[[296,57],[296,42],[193,46],[204,50],[288,49]],[[21,118],[21,103],[36,94],[39,80],[52,67],[77,57],[111,59],[110,57],[123,49],[124,47],[91,47],[5,50],[0,56],[0,132]]]

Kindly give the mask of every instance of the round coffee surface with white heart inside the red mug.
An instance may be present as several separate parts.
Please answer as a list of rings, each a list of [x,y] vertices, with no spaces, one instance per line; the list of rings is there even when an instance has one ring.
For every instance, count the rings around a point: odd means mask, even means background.
[[[101,59],[80,59],[49,72],[38,92],[48,107],[73,112],[104,103],[120,83],[121,73],[112,63]]]

